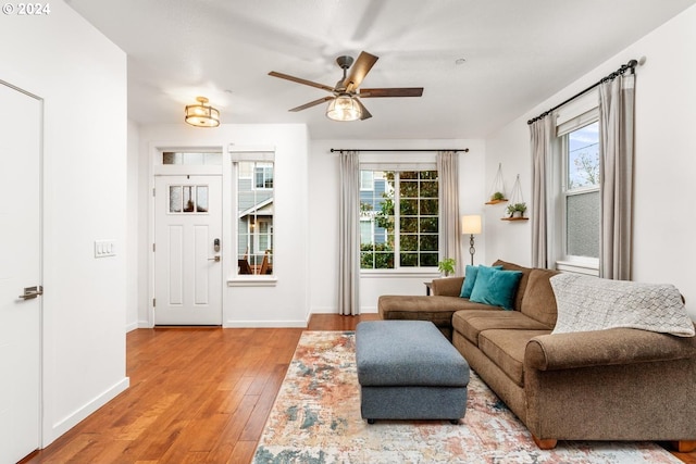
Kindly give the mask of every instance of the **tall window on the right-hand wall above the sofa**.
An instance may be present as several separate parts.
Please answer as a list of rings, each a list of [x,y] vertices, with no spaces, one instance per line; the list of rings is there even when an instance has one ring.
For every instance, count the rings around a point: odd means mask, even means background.
[[[566,261],[599,260],[599,123],[561,136],[563,255]]]

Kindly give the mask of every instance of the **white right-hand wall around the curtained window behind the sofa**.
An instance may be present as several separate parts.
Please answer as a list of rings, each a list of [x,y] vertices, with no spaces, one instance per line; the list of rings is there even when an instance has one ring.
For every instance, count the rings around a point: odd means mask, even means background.
[[[691,224],[696,175],[696,7],[531,109],[486,140],[487,177],[502,162],[508,185],[521,174],[531,198],[531,158],[526,121],[588,87],[631,59],[646,57],[636,70],[635,208],[633,279],[675,285],[696,319],[696,241]],[[493,214],[493,213],[490,213]],[[534,214],[530,211],[530,214]],[[531,263],[530,224],[502,223],[486,234],[492,258]],[[524,247],[520,247],[524,243]]]

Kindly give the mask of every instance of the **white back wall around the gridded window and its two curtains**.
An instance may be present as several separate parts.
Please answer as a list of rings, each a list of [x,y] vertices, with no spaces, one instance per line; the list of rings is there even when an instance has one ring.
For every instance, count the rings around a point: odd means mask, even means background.
[[[482,214],[484,198],[483,140],[314,140],[310,147],[309,186],[310,211],[310,281],[312,313],[336,313],[338,300],[338,153],[331,149],[434,149],[469,148],[459,153],[460,215]],[[431,153],[396,153],[403,161],[432,160]],[[372,161],[394,153],[364,152],[361,160]],[[484,231],[487,224],[484,224]],[[469,240],[462,240],[462,256],[469,262]],[[485,241],[476,239],[476,263],[485,263]],[[375,313],[381,294],[425,294],[424,281],[438,274],[363,275],[360,279],[360,311]]]

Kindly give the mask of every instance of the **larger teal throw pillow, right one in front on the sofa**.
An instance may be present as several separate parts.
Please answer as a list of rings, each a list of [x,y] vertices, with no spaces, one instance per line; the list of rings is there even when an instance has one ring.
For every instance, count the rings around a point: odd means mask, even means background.
[[[482,266],[469,299],[476,303],[513,310],[514,297],[521,279],[522,272],[520,271],[502,271]]]

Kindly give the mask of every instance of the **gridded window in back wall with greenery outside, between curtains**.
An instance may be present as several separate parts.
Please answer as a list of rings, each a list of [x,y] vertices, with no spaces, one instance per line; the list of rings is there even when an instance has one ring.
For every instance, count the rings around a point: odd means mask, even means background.
[[[363,170],[360,179],[360,267],[436,267],[437,171]]]

